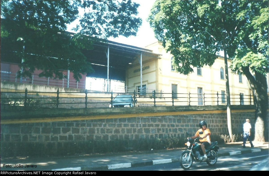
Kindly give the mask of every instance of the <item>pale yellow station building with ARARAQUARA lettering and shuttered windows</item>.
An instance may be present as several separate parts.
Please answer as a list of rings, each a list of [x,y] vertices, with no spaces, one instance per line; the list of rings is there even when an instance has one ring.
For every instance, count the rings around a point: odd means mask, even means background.
[[[146,46],[147,49],[154,53],[159,53],[158,58],[146,58],[142,62],[142,74],[140,74],[140,63],[136,60],[126,71],[126,85],[128,87],[136,87],[140,89],[142,75],[142,88],[144,90],[156,90],[156,92],[176,93],[174,97],[178,99],[182,94],[184,103],[179,105],[187,105],[187,94],[193,93],[202,98],[202,94],[219,94],[219,104],[226,104],[226,79],[225,79],[225,62],[224,57],[218,56],[215,63],[210,66],[193,68],[194,72],[189,75],[183,75],[176,72],[172,66],[173,55],[167,53],[160,43],[155,42]],[[231,59],[228,58],[228,68],[231,65]],[[252,90],[249,82],[244,75],[233,74],[229,70],[229,91],[232,98],[247,98],[252,96]],[[268,76],[267,76],[268,80]],[[267,81],[268,82],[268,81]],[[141,94],[143,94],[143,89]],[[145,94],[145,93],[144,93]],[[185,96],[185,97],[184,97]],[[172,98],[171,98],[172,99]],[[212,98],[212,105],[216,104]],[[252,102],[253,103],[253,102]],[[203,105],[202,100],[198,105]],[[239,102],[231,101],[231,105],[238,105]],[[248,104],[251,104],[248,102]],[[197,104],[196,104],[197,105]]]

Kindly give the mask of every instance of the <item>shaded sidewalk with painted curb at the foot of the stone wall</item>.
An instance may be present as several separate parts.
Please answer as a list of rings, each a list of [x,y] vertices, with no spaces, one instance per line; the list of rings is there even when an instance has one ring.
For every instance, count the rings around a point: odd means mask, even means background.
[[[242,147],[242,142],[227,143],[219,145],[218,157],[239,155],[243,153],[260,152],[268,150],[268,142],[254,143],[254,148],[250,148],[247,142],[246,148]],[[124,152],[108,153],[80,156],[63,157],[25,157],[25,158],[1,158],[1,171],[97,171],[111,170],[116,168],[150,166],[155,164],[178,162],[180,154],[186,148],[151,150],[146,152]],[[5,167],[3,167],[5,164]],[[11,167],[6,167],[7,165]],[[23,167],[15,167],[16,165]],[[25,167],[30,166],[30,167]]]

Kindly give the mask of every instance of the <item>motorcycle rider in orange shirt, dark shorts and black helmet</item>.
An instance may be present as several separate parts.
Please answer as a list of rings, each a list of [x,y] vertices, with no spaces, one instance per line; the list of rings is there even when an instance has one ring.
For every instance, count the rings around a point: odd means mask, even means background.
[[[195,139],[199,136],[199,141],[201,143],[201,149],[204,153],[204,156],[201,160],[206,161],[207,160],[206,148],[208,148],[210,146],[210,143],[211,143],[211,139],[210,139],[211,132],[210,132],[209,128],[207,128],[207,121],[205,121],[205,120],[200,121],[199,127],[200,127],[200,129],[195,133],[195,135],[192,137],[188,137],[187,139],[189,139],[189,138]],[[199,134],[199,132],[203,132],[203,134]]]

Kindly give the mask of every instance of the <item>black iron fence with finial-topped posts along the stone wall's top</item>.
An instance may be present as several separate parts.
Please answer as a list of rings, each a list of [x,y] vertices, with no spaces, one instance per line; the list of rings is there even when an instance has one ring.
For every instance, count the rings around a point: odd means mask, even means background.
[[[226,95],[193,93],[158,93],[146,95],[123,92],[1,92],[1,109],[23,108],[97,108],[109,107],[116,95],[132,95],[137,100],[136,106],[186,106],[186,105],[226,105]],[[253,95],[231,94],[231,105],[253,105]]]

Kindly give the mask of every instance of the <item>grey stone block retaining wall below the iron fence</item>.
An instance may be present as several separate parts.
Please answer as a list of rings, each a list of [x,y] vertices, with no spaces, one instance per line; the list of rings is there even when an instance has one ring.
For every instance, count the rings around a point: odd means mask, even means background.
[[[183,114],[183,115],[182,115]],[[119,115],[120,116],[120,115]],[[254,121],[254,111],[232,113],[233,134],[242,133],[246,118]],[[68,155],[98,152],[111,144],[122,145],[122,150],[133,148],[137,141],[186,138],[193,135],[199,122],[207,120],[214,136],[228,135],[226,112],[182,112],[179,115],[100,118],[1,124],[1,156]],[[253,132],[254,132],[253,125]],[[106,149],[104,149],[106,148]]]

